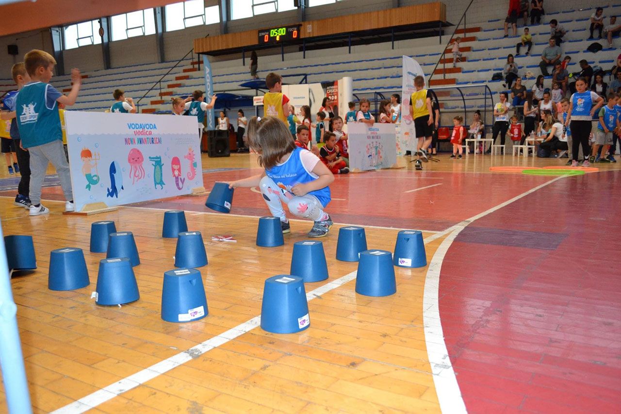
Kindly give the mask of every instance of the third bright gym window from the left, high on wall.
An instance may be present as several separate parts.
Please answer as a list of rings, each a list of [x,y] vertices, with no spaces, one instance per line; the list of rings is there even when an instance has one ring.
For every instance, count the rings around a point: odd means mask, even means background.
[[[166,32],[220,22],[218,6],[204,7],[204,0],[189,0],[165,6]]]

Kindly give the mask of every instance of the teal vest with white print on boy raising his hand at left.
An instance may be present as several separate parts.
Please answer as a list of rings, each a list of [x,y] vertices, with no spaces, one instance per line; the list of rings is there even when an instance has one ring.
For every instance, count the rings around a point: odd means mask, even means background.
[[[52,108],[45,106],[47,87],[43,82],[29,83],[17,95],[17,126],[24,148],[63,139],[56,101]]]

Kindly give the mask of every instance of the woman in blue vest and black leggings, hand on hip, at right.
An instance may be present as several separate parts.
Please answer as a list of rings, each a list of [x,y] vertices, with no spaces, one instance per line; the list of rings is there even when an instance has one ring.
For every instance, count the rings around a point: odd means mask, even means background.
[[[576,80],[576,93],[569,99],[569,111],[565,126],[571,129],[572,167],[578,167],[578,151],[582,144],[584,162],[582,167],[589,167],[589,134],[591,134],[591,121],[597,109],[604,104],[604,98],[593,91],[587,91],[586,79]]]

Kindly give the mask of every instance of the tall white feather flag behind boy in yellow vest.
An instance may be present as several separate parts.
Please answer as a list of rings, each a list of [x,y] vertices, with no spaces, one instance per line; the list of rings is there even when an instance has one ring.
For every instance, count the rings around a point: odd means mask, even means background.
[[[425,73],[413,58],[409,56],[403,57],[403,85],[401,88],[401,126],[399,127],[399,139],[397,142],[397,149],[400,151],[414,151],[416,150],[416,131],[414,129],[414,119],[410,117],[410,96],[414,93],[414,78],[416,76],[425,77]],[[425,85],[427,85],[427,79],[425,78]],[[401,153],[399,155],[402,155]]]

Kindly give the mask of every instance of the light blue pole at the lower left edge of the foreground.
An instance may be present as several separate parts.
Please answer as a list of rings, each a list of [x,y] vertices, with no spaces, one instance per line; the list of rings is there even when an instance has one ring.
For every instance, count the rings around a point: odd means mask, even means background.
[[[11,414],[31,414],[30,393],[24,369],[24,356],[17,330],[17,306],[13,301],[9,265],[0,228],[0,367]]]

